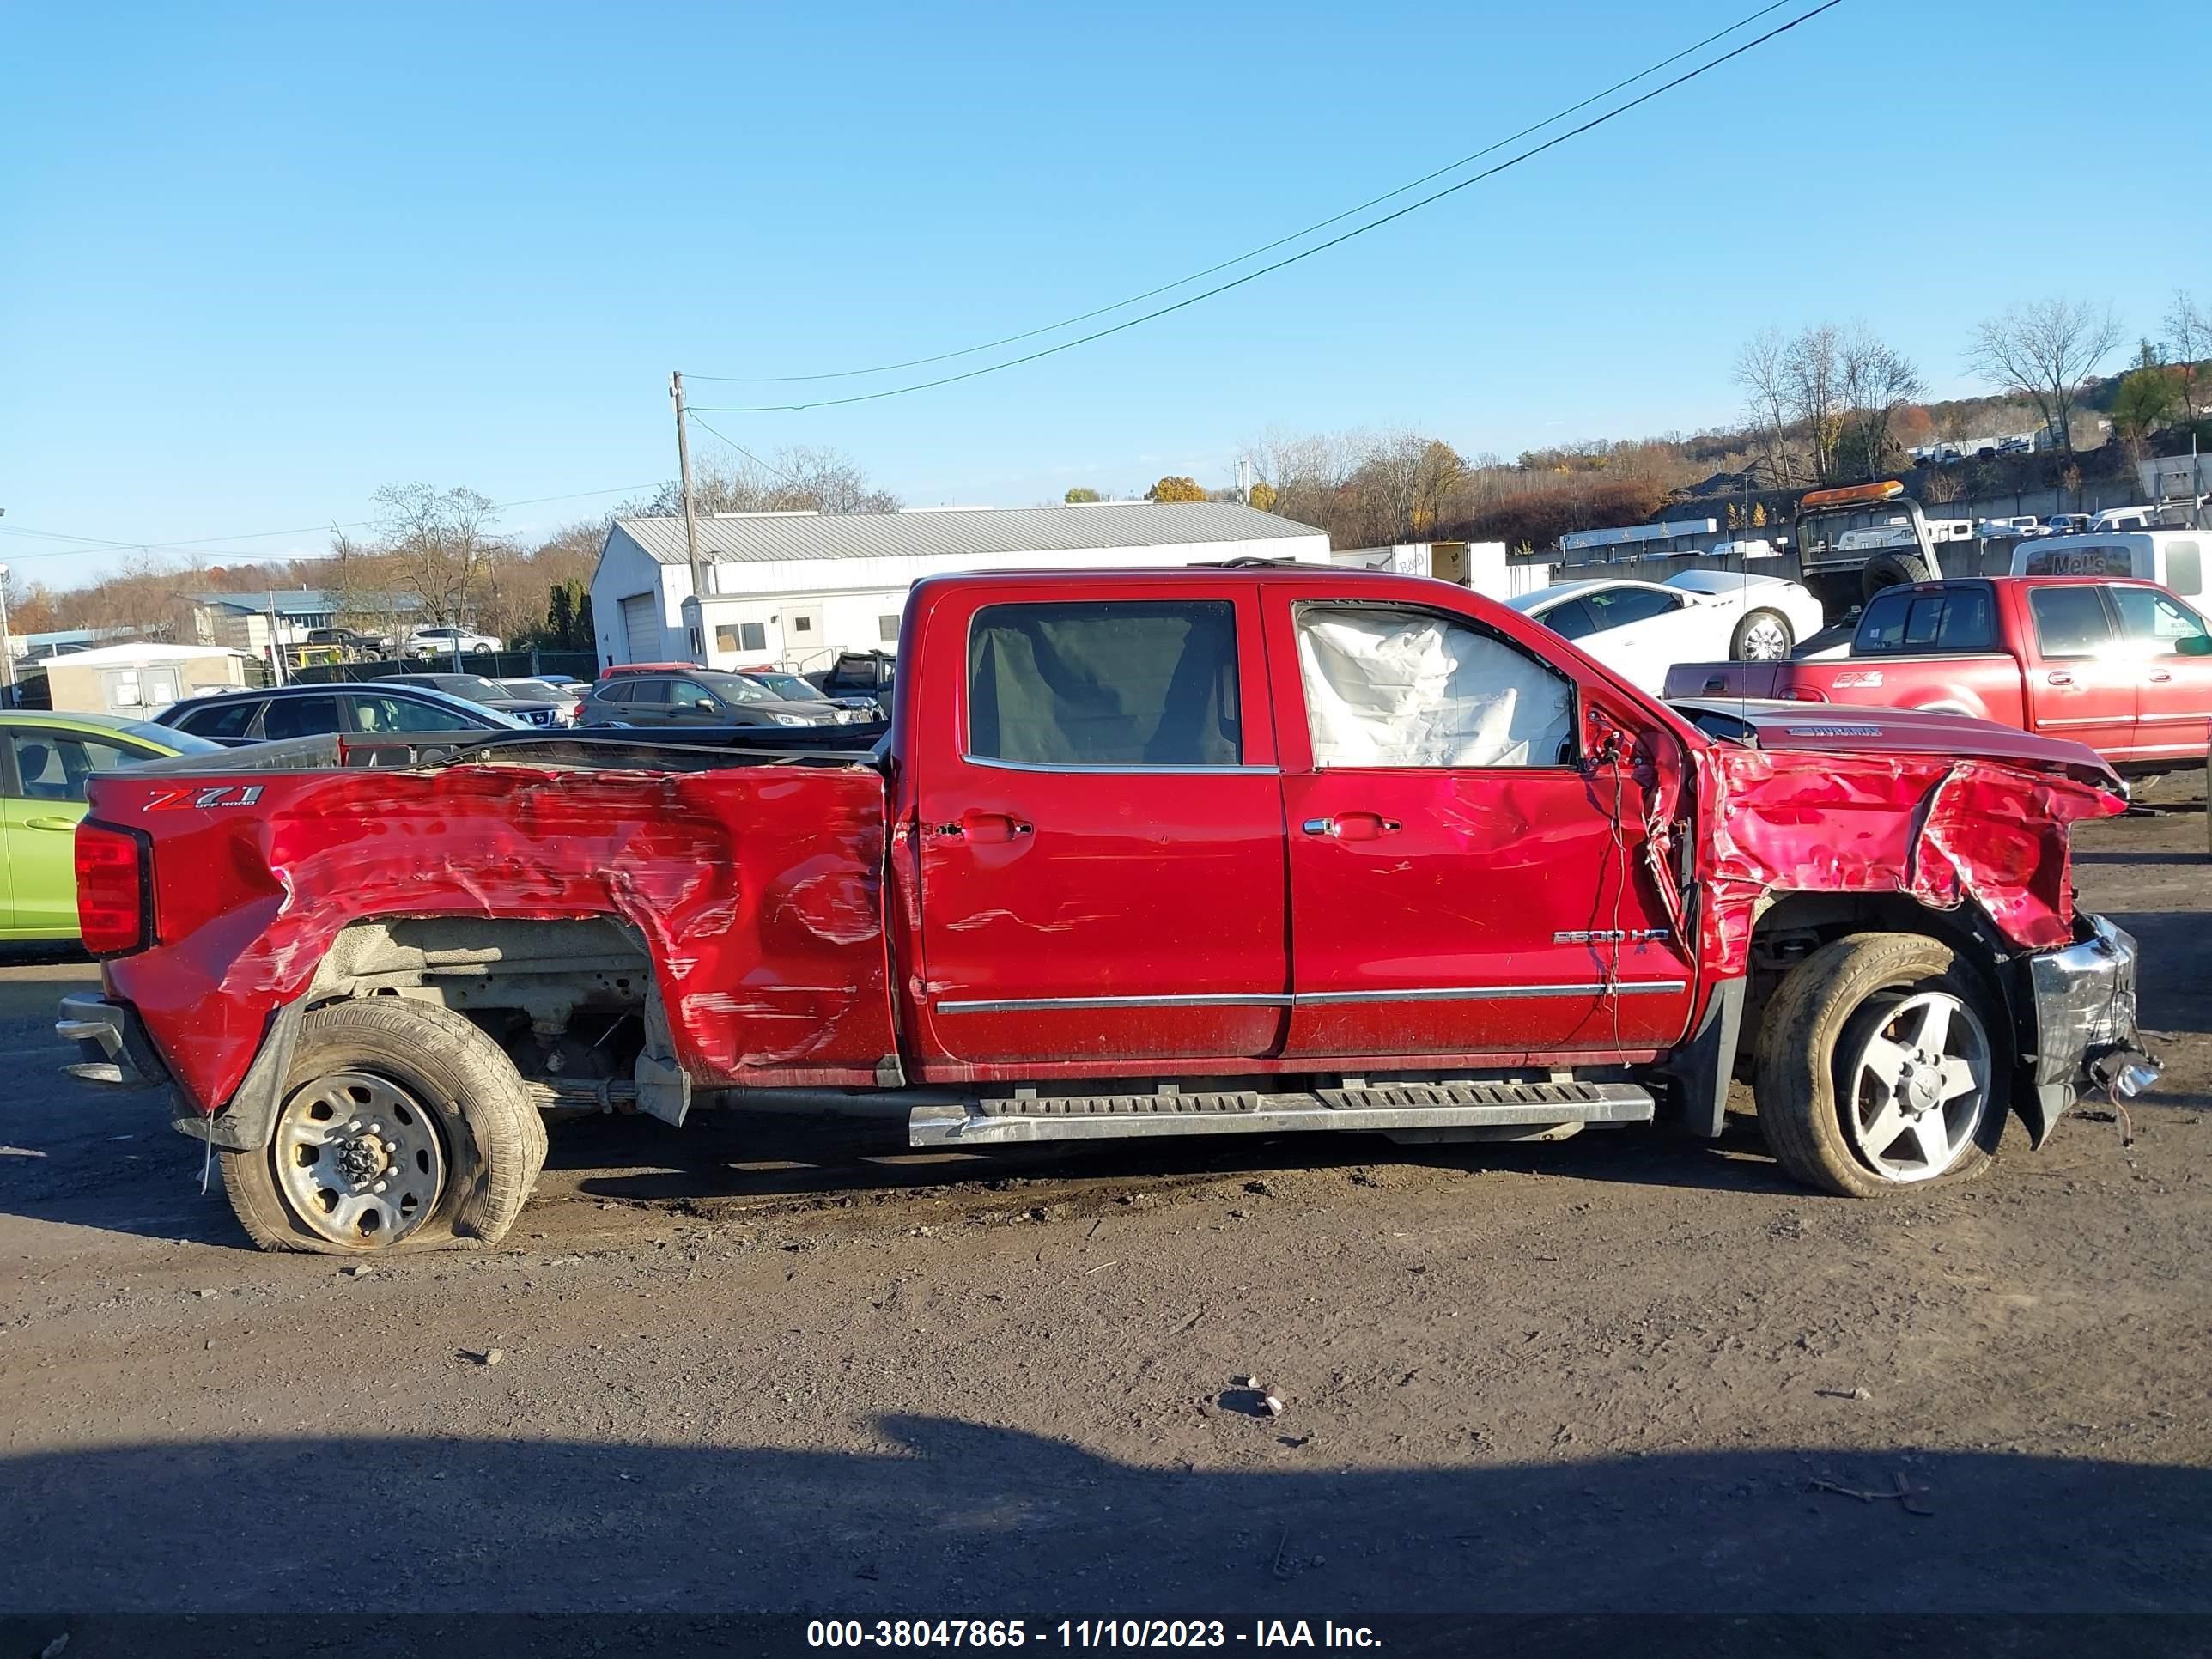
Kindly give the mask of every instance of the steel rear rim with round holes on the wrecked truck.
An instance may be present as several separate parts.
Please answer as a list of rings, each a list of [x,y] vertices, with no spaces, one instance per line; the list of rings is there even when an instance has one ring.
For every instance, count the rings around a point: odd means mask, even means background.
[[[405,1239],[445,1194],[436,1115],[365,1071],[334,1071],[299,1088],[276,1117],[270,1157],[292,1214],[356,1250]]]

